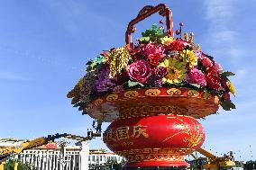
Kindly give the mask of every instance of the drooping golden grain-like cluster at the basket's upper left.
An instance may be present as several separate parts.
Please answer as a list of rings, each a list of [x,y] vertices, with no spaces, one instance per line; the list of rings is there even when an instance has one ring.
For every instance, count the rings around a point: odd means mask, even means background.
[[[123,48],[113,49],[108,58],[108,64],[110,67],[109,77],[113,78],[117,74],[121,73],[122,70],[127,67],[130,59],[132,59],[132,56],[126,46]]]

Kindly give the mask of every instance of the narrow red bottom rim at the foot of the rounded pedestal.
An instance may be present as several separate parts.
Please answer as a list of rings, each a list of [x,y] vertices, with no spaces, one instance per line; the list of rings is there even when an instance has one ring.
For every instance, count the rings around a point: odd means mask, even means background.
[[[147,166],[165,166],[165,167],[174,167],[174,166],[188,166],[186,161],[142,161],[135,163],[127,163],[124,167],[147,167]]]

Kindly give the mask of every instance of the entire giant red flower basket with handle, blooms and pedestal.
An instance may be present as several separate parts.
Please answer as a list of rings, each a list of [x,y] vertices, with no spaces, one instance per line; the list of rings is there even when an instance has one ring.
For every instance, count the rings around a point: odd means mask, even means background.
[[[166,18],[132,42],[134,24],[153,13]],[[68,94],[90,117],[111,122],[104,142],[126,158],[126,168],[187,166],[184,157],[201,147],[205,132],[197,119],[221,105],[234,109],[233,84],[223,67],[194,43],[194,34],[174,36],[165,4],[145,6],[129,23],[126,45],[87,62],[87,73]]]

